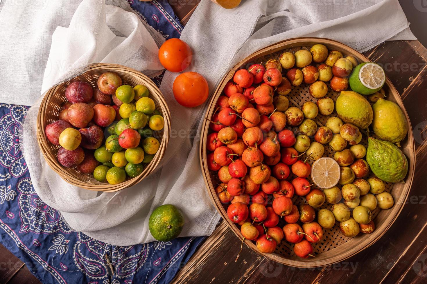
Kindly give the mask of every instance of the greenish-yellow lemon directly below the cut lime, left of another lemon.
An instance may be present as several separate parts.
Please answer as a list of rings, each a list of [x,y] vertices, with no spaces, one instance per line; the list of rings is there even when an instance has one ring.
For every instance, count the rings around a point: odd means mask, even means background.
[[[335,110],[339,118],[360,129],[368,128],[374,118],[368,100],[357,92],[342,91],[336,99]]]

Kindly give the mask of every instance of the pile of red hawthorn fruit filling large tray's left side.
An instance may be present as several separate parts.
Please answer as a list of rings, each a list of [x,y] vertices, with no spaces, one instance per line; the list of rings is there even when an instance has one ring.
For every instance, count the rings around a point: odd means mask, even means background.
[[[311,244],[320,241],[323,232],[313,222],[313,207],[292,204],[294,194],[310,192],[311,167],[298,160],[302,154],[292,148],[294,133],[285,128],[292,117],[276,111],[275,104],[280,103],[276,99],[273,104],[273,98],[283,97],[275,92],[289,93],[291,88],[277,62],[240,69],[226,84],[210,120],[208,168],[218,175],[217,196],[222,204],[231,202],[228,217],[241,226],[244,238],[256,241],[263,253],[274,252],[285,238],[295,244],[295,255],[307,258],[313,256]],[[294,178],[287,181],[288,177]],[[287,223],[283,229],[278,227],[279,218]]]

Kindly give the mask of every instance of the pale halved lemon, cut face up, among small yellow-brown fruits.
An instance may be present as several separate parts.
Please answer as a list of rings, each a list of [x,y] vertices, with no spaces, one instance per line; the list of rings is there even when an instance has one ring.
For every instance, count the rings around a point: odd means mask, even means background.
[[[331,188],[338,184],[341,176],[339,164],[329,157],[314,161],[311,165],[311,179],[320,188]]]

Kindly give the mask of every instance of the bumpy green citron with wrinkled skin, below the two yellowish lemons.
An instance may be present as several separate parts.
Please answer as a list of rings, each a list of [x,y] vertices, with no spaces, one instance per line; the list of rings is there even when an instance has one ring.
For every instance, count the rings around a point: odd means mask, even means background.
[[[374,175],[383,181],[398,182],[408,172],[408,159],[393,143],[368,138],[366,161]]]

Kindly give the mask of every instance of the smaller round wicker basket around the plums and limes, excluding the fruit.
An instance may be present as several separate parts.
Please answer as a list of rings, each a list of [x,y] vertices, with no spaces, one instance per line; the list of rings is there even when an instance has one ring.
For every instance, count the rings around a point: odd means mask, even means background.
[[[149,97],[154,100],[156,109],[160,111],[164,117],[164,129],[162,131],[155,132],[154,135],[155,138],[157,138],[160,142],[160,148],[155,154],[153,160],[149,164],[145,165],[143,172],[140,175],[135,178],[128,177],[124,182],[120,184],[108,184],[107,182],[99,182],[95,180],[93,175],[81,173],[76,168],[66,168],[62,166],[58,163],[58,160],[56,158],[56,153],[58,152],[60,146],[56,146],[50,143],[47,140],[46,135],[44,134],[45,127],[49,123],[53,123],[54,121],[58,120],[58,115],[61,106],[65,101],[67,101],[64,95],[67,85],[72,80],[84,80],[90,83],[93,87],[96,87],[99,75],[107,71],[113,71],[119,74],[122,78],[123,84],[128,84],[131,86],[141,84],[146,86],[149,89]],[[167,107],[166,101],[164,100],[164,97],[156,86],[156,84],[149,77],[143,75],[137,70],[118,64],[91,64],[85,67],[82,75],[79,75],[57,86],[53,86],[46,92],[46,95],[44,95],[37,116],[37,141],[40,150],[43,153],[44,158],[50,168],[57,172],[58,175],[63,178],[64,181],[67,181],[69,184],[95,191],[115,192],[120,189],[133,186],[142,181],[159,164],[161,158],[164,155],[164,152],[166,151],[167,143],[169,141],[169,134],[170,112]]]

